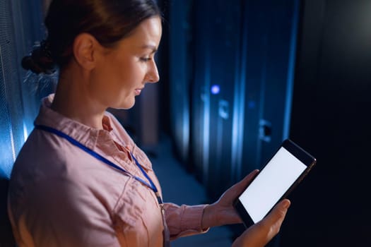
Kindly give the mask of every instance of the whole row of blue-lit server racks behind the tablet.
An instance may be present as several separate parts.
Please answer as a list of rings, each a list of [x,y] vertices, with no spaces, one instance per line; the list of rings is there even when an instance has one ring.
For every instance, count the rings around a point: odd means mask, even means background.
[[[298,8],[295,0],[194,6],[189,145],[211,198],[288,138]]]

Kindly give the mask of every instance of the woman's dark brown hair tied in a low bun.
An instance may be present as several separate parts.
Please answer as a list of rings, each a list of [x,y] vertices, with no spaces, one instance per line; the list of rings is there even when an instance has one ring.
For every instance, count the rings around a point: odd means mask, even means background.
[[[113,47],[143,20],[160,15],[155,0],[53,0],[45,18],[47,39],[23,58],[22,66],[34,73],[54,73],[69,63],[80,33]]]

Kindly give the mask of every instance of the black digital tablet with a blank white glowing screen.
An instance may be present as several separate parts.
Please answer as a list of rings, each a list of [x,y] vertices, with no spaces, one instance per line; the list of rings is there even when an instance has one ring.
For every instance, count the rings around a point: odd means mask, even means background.
[[[284,140],[234,206],[246,227],[263,219],[305,178],[316,159],[292,140]]]

